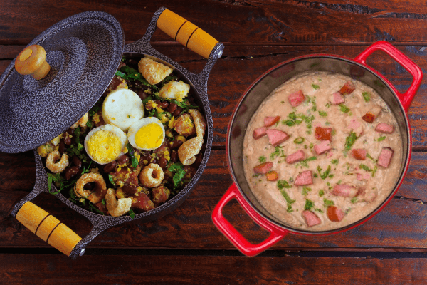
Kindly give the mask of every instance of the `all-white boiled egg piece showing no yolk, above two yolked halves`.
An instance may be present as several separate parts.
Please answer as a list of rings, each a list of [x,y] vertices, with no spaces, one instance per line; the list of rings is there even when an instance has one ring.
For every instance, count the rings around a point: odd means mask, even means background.
[[[102,104],[105,123],[127,132],[130,125],[144,117],[144,105],[137,93],[129,89],[117,89],[108,94]]]

